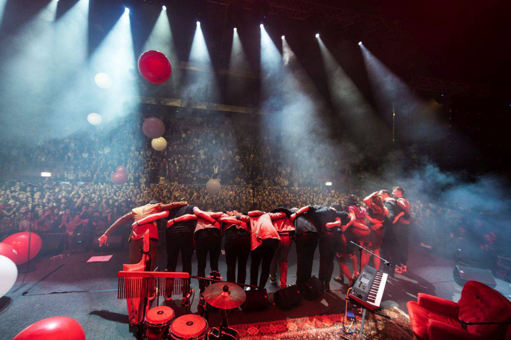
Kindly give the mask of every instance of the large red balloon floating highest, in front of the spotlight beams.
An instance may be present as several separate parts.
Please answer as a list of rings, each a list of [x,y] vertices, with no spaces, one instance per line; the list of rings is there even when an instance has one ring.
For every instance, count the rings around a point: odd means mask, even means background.
[[[146,51],[138,58],[138,71],[147,81],[154,84],[165,83],[172,74],[172,66],[165,54]]]

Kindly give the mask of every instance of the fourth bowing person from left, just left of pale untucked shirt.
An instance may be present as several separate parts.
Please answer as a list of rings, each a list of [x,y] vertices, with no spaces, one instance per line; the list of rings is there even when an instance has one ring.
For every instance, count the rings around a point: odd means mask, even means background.
[[[247,260],[250,254],[250,217],[238,211],[227,211],[227,216],[236,218],[236,222],[224,222],[222,232],[225,235],[225,262],[227,263],[227,281],[245,284]],[[238,280],[236,280],[236,262],[238,262]]]

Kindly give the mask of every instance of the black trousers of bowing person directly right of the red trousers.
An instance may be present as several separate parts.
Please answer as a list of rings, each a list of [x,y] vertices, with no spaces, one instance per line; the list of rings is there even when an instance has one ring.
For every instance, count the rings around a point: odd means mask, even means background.
[[[317,233],[302,233],[295,237],[296,242],[296,284],[304,283],[312,276],[314,253],[318,245]]]

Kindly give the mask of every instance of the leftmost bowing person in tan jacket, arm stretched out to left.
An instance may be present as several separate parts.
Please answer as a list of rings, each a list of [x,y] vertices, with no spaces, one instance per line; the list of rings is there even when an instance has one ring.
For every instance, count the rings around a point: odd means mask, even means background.
[[[152,269],[154,269],[154,266],[156,264],[156,259],[158,256],[158,228],[157,228],[156,222],[154,220],[142,222],[140,224],[137,222],[151,214],[160,213],[160,212],[168,213],[168,211],[171,209],[183,207],[183,206],[186,206],[187,204],[188,203],[185,201],[163,204],[156,200],[151,200],[145,206],[133,208],[129,213],[125,214],[124,216],[118,218],[115,222],[113,222],[113,224],[110,225],[110,228],[108,228],[107,231],[103,235],[101,235],[101,237],[99,238],[99,246],[102,246],[103,244],[108,242],[108,237],[119,227],[119,225],[122,225],[124,223],[134,220],[135,223],[133,223],[133,225],[132,225],[133,230],[131,231],[131,234],[128,239],[128,241],[129,241],[129,263],[130,264],[138,263],[142,260],[142,253],[140,252],[140,250],[143,246],[142,237],[143,237],[145,231],[149,230],[149,237],[150,237],[149,250],[150,250],[151,270],[152,270]]]

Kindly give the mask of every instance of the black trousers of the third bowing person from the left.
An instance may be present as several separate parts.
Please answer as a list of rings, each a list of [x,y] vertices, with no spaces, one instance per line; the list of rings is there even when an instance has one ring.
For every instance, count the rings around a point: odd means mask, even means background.
[[[218,271],[218,259],[220,258],[222,235],[218,228],[206,228],[195,233],[195,252],[197,254],[197,276],[206,275],[206,258],[210,254],[210,268]],[[199,281],[200,291],[205,286]]]

